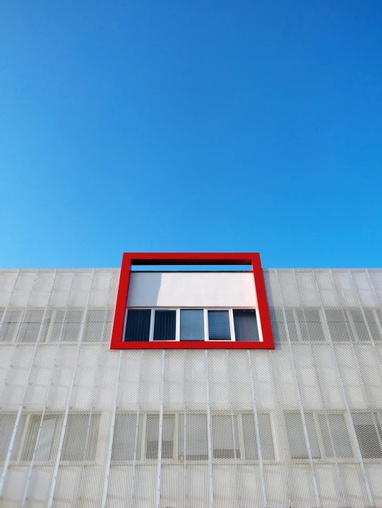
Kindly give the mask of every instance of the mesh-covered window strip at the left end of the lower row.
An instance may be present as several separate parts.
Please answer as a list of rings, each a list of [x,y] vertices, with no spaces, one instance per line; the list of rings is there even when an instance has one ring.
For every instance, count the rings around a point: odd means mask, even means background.
[[[14,432],[17,414],[0,415],[0,461],[4,461]],[[57,455],[63,414],[21,415],[10,457],[14,462],[52,461]],[[61,461],[94,461],[99,414],[72,413],[68,416]]]

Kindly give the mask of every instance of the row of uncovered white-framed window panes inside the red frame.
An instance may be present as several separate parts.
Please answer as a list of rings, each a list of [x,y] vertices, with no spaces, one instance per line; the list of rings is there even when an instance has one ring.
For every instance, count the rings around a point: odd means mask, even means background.
[[[129,308],[123,341],[259,342],[257,310]]]

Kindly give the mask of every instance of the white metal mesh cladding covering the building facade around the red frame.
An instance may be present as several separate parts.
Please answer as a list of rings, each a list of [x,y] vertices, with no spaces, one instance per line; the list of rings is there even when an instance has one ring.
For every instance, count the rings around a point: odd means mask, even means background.
[[[111,351],[119,270],[0,271],[0,506],[382,506],[382,271],[264,275],[275,350]]]

